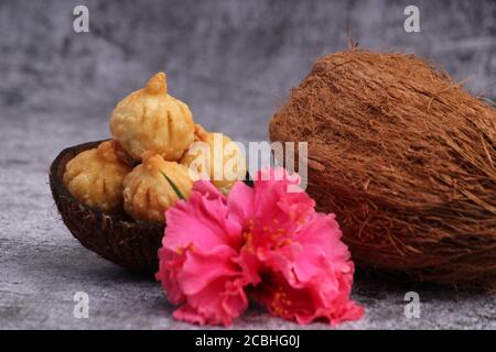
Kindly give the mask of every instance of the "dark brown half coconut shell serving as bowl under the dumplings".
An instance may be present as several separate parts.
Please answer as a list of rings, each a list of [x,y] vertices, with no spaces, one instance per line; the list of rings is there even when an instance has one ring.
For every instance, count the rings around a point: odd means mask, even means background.
[[[104,141],[68,147],[58,154],[50,168],[50,187],[62,220],[87,249],[131,271],[154,273],[159,267],[157,251],[164,227],[134,221],[122,212],[107,215],[75,199],[63,183],[65,165],[83,151]]]

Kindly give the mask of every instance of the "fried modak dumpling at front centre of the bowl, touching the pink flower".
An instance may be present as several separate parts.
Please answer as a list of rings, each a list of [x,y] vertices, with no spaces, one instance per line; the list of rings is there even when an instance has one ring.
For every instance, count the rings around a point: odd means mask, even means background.
[[[164,161],[154,152],[143,154],[143,163],[132,169],[123,182],[125,210],[134,220],[164,223],[164,212],[179,197],[169,179],[181,194],[190,197],[193,180],[187,167]]]

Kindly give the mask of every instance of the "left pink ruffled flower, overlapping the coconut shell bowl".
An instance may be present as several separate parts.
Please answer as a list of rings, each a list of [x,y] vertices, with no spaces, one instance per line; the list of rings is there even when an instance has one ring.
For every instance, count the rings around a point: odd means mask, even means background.
[[[226,198],[196,182],[190,199],[165,212],[157,279],[181,307],[174,318],[200,324],[230,324],[248,306],[247,280],[236,264],[244,243],[240,224],[228,218]]]

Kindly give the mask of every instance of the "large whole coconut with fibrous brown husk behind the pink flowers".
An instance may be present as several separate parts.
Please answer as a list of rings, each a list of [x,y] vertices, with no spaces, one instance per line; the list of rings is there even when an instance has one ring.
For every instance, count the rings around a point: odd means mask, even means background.
[[[405,54],[320,58],[274,114],[359,266],[495,287],[496,110]]]

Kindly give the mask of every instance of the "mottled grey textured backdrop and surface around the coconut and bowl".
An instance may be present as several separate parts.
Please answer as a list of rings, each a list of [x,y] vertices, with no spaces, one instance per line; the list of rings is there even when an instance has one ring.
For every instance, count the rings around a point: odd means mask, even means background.
[[[403,31],[418,4],[421,33]],[[86,4],[90,33],[75,34]],[[0,328],[190,328],[157,283],[82,248],[61,223],[47,168],[64,147],[108,135],[114,105],[157,70],[195,120],[239,141],[267,139],[274,109],[322,54],[346,47],[417,53],[496,97],[496,1],[0,2]],[[420,294],[421,319],[403,295]],[[73,317],[75,292],[90,318]],[[496,328],[496,299],[358,275],[365,319],[342,328]],[[296,328],[250,310],[235,328]],[[326,328],[312,324],[310,328]]]

